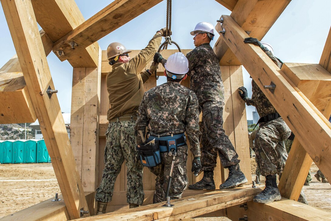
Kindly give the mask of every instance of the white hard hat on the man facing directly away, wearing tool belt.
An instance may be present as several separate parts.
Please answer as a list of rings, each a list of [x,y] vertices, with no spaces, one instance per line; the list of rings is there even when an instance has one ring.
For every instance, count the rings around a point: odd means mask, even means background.
[[[188,60],[182,52],[176,52],[169,56],[165,68],[168,77],[182,79],[188,72]]]

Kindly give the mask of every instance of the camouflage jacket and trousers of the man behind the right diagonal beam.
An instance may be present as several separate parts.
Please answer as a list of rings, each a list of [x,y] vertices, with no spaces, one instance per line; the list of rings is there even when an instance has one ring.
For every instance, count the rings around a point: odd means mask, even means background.
[[[265,51],[265,53],[279,68],[281,67],[281,63],[270,51]],[[252,80],[252,98],[245,98],[244,101],[248,105],[255,106],[260,116],[277,112],[254,80]],[[262,176],[282,173],[288,157],[283,141],[290,134],[290,128],[281,117],[260,123],[254,146]]]

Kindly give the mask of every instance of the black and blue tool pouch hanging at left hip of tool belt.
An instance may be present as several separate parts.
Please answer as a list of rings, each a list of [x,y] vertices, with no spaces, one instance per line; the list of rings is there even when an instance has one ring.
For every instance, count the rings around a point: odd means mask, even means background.
[[[146,140],[146,143],[148,142],[149,140]],[[161,164],[160,148],[157,140],[152,145],[140,144],[137,146],[137,149],[140,161],[145,167],[155,167]]]

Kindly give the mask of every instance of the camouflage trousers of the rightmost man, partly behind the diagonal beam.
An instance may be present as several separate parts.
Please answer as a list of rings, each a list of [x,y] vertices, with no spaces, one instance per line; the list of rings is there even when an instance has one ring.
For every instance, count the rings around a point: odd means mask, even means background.
[[[282,174],[288,157],[283,141],[290,134],[290,128],[281,117],[260,124],[254,147],[262,176]]]

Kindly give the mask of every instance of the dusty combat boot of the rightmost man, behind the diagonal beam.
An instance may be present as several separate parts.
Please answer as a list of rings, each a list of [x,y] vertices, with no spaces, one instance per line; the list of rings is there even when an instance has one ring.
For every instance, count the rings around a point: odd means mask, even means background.
[[[265,188],[258,195],[254,196],[253,202],[271,203],[281,198],[276,183],[276,175],[268,175],[265,177]]]

